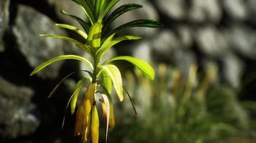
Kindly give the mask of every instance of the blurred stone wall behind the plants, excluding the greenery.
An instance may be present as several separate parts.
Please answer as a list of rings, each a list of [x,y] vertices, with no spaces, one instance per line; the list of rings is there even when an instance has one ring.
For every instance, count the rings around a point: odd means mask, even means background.
[[[142,4],[144,8],[120,17],[113,27],[141,18],[156,19],[165,27],[122,31],[144,39],[120,44],[117,54],[132,54],[155,66],[160,62],[178,66],[184,75],[191,64],[198,64],[202,71],[209,64],[217,64],[219,82],[241,89],[242,94],[253,94],[255,82],[246,89],[242,86],[248,77],[255,77],[255,0],[121,0],[120,4],[127,2]],[[78,140],[72,133],[74,117],[68,114],[63,132],[61,122],[65,104],[80,75],[68,79],[52,99],[47,99],[47,94],[61,77],[79,69],[79,64],[53,64],[29,77],[32,69],[53,56],[80,54],[75,45],[38,36],[72,35],[54,26],[63,22],[78,26],[61,15],[60,9],[83,16],[69,0],[0,1],[0,142]]]

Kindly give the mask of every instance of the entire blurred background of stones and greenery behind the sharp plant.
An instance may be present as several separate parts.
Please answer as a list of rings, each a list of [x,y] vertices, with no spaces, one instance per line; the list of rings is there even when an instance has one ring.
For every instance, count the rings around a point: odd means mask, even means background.
[[[256,0],[121,0],[144,7],[119,17],[113,28],[133,19],[155,19],[162,29],[134,28],[119,34],[143,36],[119,44],[105,58],[132,55],[149,62],[155,81],[132,65],[116,63],[129,98],[114,97],[116,127],[109,142],[256,142]],[[83,17],[70,0],[0,0],[0,142],[80,142],[76,116],[65,106],[83,75],[75,61],[53,64],[36,76],[32,69],[60,54],[83,55],[76,46],[38,34],[76,34],[55,23],[78,26],[60,14]],[[101,124],[104,142],[104,123]]]

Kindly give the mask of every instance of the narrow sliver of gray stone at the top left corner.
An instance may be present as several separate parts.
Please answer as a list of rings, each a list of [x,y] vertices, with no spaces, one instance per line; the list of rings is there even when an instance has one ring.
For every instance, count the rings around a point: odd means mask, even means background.
[[[3,34],[9,23],[9,0],[0,1],[0,52],[4,51]]]

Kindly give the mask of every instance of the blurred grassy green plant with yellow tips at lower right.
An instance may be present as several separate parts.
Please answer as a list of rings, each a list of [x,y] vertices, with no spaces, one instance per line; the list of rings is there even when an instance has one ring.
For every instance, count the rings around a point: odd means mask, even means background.
[[[237,139],[233,137],[243,137],[249,120],[237,93],[214,83],[218,71],[215,65],[209,66],[203,78],[197,69],[191,66],[184,78],[177,69],[160,64],[155,82],[143,79],[139,72],[135,72],[135,79],[128,71],[127,86],[134,95],[139,117],[135,123],[123,118],[127,116],[117,117],[123,124],[112,133],[117,137],[113,140],[200,143],[234,142]],[[121,111],[127,109],[129,104]]]

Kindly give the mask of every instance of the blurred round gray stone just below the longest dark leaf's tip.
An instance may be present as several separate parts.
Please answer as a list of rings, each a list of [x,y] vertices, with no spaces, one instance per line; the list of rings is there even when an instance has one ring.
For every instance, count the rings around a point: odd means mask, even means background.
[[[178,36],[170,29],[163,29],[152,39],[152,49],[161,58],[168,59],[175,49],[181,46]]]

